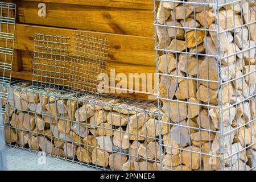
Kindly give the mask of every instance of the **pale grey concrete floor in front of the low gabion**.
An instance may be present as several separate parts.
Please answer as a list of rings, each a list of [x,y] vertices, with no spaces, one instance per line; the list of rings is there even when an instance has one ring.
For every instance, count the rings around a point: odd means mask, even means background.
[[[94,171],[96,169],[35,154],[34,152],[5,147],[9,171]]]

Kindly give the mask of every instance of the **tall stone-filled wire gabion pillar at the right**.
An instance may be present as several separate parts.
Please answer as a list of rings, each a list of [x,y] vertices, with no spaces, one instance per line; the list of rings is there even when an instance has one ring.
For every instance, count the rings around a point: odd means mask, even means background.
[[[154,6],[161,169],[255,169],[255,1]]]

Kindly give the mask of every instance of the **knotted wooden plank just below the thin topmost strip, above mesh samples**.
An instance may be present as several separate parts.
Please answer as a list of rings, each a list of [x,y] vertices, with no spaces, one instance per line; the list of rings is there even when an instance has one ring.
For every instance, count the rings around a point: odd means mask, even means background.
[[[20,23],[154,36],[151,10],[46,3],[46,17],[39,17],[38,2],[18,1],[17,5]]]

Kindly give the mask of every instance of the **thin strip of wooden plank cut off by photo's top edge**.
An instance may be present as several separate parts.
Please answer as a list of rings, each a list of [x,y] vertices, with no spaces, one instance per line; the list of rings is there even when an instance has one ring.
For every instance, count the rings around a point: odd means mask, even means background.
[[[24,0],[19,0],[24,1]],[[123,7],[130,9],[153,10],[153,0],[25,0],[36,2],[53,2],[65,3],[71,5],[88,5],[88,6],[107,6],[107,7]]]

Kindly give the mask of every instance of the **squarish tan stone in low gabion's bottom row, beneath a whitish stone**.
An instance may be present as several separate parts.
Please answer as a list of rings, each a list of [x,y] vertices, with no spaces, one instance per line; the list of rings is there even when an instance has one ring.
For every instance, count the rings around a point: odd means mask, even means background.
[[[101,167],[109,166],[109,153],[103,150],[94,148],[92,151],[92,163]]]

